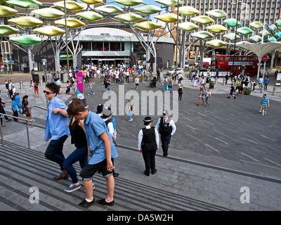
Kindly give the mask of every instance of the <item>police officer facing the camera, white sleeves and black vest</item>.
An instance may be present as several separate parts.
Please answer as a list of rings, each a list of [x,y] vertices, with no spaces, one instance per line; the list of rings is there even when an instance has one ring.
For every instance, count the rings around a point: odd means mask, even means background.
[[[163,117],[160,117],[155,128],[161,134],[163,157],[168,157],[168,148],[171,141],[171,136],[176,132],[176,124],[169,119],[168,110],[163,110]]]

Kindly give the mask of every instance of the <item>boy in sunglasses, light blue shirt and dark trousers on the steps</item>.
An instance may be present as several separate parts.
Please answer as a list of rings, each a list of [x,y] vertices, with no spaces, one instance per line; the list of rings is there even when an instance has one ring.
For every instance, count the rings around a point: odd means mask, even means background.
[[[63,144],[70,135],[70,129],[67,127],[68,114],[65,103],[57,98],[60,87],[54,82],[48,83],[44,90],[45,98],[48,99],[48,114],[45,129],[45,141],[51,139],[45,152],[48,160],[60,165],[61,173],[53,179],[68,179],[69,175],[63,167],[65,156],[63,155]]]

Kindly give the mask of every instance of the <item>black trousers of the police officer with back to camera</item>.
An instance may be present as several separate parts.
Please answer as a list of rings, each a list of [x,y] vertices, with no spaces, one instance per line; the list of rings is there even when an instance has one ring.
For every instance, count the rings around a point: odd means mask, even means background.
[[[155,154],[157,150],[156,143],[144,143],[142,148],[143,160],[145,160],[145,174],[155,173]]]

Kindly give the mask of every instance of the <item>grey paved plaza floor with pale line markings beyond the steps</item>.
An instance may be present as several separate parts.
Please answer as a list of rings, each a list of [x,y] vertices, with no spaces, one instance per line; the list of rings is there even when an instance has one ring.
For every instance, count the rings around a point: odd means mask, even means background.
[[[19,85],[20,79],[19,76],[17,82],[14,82],[20,96],[27,94],[30,105],[46,108],[46,99],[43,93],[44,83],[39,86],[40,97],[34,98],[34,94],[30,92],[28,77],[22,78],[24,81],[22,89],[20,89]],[[196,200],[197,204],[201,204],[201,206],[195,207],[193,210],[214,210],[215,208],[216,210],[280,210],[280,86],[277,87],[275,96],[272,95],[273,85],[268,87],[268,91],[263,91],[270,99],[270,108],[268,108],[267,115],[261,116],[259,108],[262,93],[259,88],[256,88],[248,96],[237,96],[236,99],[228,99],[226,97],[229,94],[230,84],[223,85],[222,78],[219,78],[214,89],[211,89],[212,98],[208,108],[205,108],[202,103],[197,105],[198,88],[192,86],[193,83],[187,77],[184,77],[182,82],[182,101],[178,101],[177,84],[174,85],[174,93],[169,94],[168,91],[164,91],[162,82],[157,82],[157,89],[150,88],[148,82],[142,82],[138,91],[136,91],[135,85],[130,78],[129,83],[115,84],[115,82],[112,82],[110,92],[105,89],[100,79],[93,79],[93,82],[94,95],[87,95],[88,84],[84,84],[84,93],[89,110],[96,112],[96,107],[99,103],[105,105],[112,103],[110,106],[112,111],[115,112],[114,116],[118,126],[117,151],[119,153],[119,158],[115,160],[115,166],[120,176],[116,179],[117,191],[115,192],[116,202],[119,205],[117,204],[117,207],[109,209],[98,208],[95,205],[90,207],[89,210],[192,210],[179,207],[182,203],[178,205],[176,201],[171,201],[171,206],[163,209],[159,208],[159,205],[153,206],[149,203],[148,205],[150,206],[147,208],[138,204],[128,206],[126,202],[128,199],[123,196],[126,188],[122,191],[122,189],[118,189],[118,186],[120,185],[119,188],[121,188],[129,184],[138,190],[152,188],[158,193],[163,193],[163,195],[166,193],[169,198],[171,195],[176,195],[178,196],[177,198],[182,198],[183,205],[185,202],[190,203],[191,199]],[[65,88],[66,84],[63,83],[63,86]],[[6,113],[11,115],[11,100],[5,96],[4,84],[0,84],[0,89],[2,101],[6,102]],[[127,99],[130,96],[136,102],[134,104],[135,115],[133,115],[133,122],[128,121],[129,117],[126,115],[125,109]],[[148,96],[153,96],[154,98],[148,98]],[[60,94],[58,96],[67,105],[70,99],[74,97],[76,95]],[[157,102],[157,97],[164,99],[164,107],[163,102]],[[112,99],[117,101],[111,101]],[[136,101],[137,99],[138,101]],[[154,112],[151,104],[154,106]],[[177,131],[171,139],[168,158],[162,157],[162,148],[159,147],[156,158],[157,174],[145,176],[143,175],[143,158],[137,151],[138,131],[143,128],[143,119],[147,115],[152,117],[152,125],[155,126],[162,108],[168,108],[170,112],[173,112],[171,117],[176,120]],[[20,117],[23,116],[20,115]],[[45,179],[50,179],[52,177],[51,173],[57,173],[59,168],[44,160],[43,153],[46,146],[48,146],[48,142],[44,141],[46,111],[32,107],[32,118],[36,122],[34,122],[33,127],[29,128],[30,146],[32,148],[29,154],[35,155],[35,153],[38,153],[36,155],[38,163],[41,161],[45,168],[43,176]],[[9,146],[9,143],[11,143],[10,147],[15,144],[14,148],[17,148],[16,146],[27,148],[25,125],[16,122],[7,123],[6,121],[4,121],[4,124],[6,124],[6,127],[2,131],[5,145]],[[65,142],[65,155],[72,153],[72,150],[74,150],[74,146],[70,144],[69,138]],[[4,151],[5,147],[0,149],[1,155],[7,155],[9,150],[7,149],[5,153]],[[13,190],[13,188],[17,190],[17,184],[13,184],[13,179],[11,179],[13,176],[16,176],[17,179],[20,176],[17,174],[19,172],[16,171],[16,160],[11,163],[12,169],[9,176],[4,174],[4,171],[8,170],[9,167],[8,159],[13,160],[13,154],[8,154],[10,156],[7,157],[6,161],[4,160],[3,167],[1,167],[1,176],[4,179],[2,179],[3,184],[1,183],[0,209],[46,210],[47,207],[45,208],[44,205],[40,204],[40,206],[29,205],[26,207],[24,204],[19,204],[20,207],[17,208],[15,201],[11,200],[11,196],[9,197],[9,195],[20,195],[20,193],[15,194],[13,191],[8,191]],[[25,157],[25,154],[19,155],[20,158]],[[40,158],[41,160],[39,160]],[[22,166],[22,169],[28,169],[28,167]],[[13,175],[12,171],[15,171],[15,175]],[[38,177],[34,179],[39,180],[39,175],[36,174]],[[28,177],[26,174],[25,176],[26,178]],[[6,181],[6,184],[4,181]],[[58,189],[61,189],[60,191],[62,192],[59,195],[65,195],[65,198],[70,196],[67,203],[64,200],[58,201],[56,204],[71,205],[69,202],[73,202],[73,205],[77,205],[84,198],[83,192],[76,197],[72,194],[63,193],[63,186],[69,185],[70,180],[67,182],[55,182],[58,183]],[[100,185],[97,185],[96,195],[103,197],[105,194],[103,180],[100,179],[98,182],[100,182]],[[9,188],[8,186],[10,185],[13,188]],[[46,188],[46,190],[44,196],[46,195],[46,202],[48,202],[48,198],[54,198],[53,195],[56,193],[53,193],[52,189]],[[135,190],[138,192],[136,193],[136,198],[148,198],[139,196],[141,191],[138,190]],[[50,196],[48,196],[48,191]],[[55,192],[57,191],[59,190],[55,190]],[[151,198],[164,201],[164,197],[157,196],[152,193],[152,190],[150,191],[151,196],[153,196]],[[247,195],[248,193],[249,196]],[[27,196],[23,196],[27,198],[28,191],[25,195]],[[208,205],[209,208],[202,207],[204,204]],[[51,210],[57,210],[58,208],[53,207]],[[65,208],[65,210],[79,209],[69,207]]]

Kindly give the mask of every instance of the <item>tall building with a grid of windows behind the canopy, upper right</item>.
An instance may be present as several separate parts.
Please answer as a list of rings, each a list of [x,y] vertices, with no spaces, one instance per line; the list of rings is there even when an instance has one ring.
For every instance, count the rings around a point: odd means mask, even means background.
[[[240,5],[238,11],[238,5],[236,4],[238,0],[183,0],[183,6],[192,6],[200,11],[199,15],[207,15],[207,11],[214,9],[221,9],[228,14],[227,18],[238,18],[242,23],[241,27],[249,27],[249,24],[254,21],[259,21],[261,23],[266,23],[266,25],[275,24],[276,20],[281,18],[281,0],[239,0],[243,4]],[[234,3],[234,4],[232,4]],[[176,13],[176,11],[174,11]],[[192,22],[191,18],[194,16],[186,16],[185,21]],[[215,24],[224,25],[222,19],[216,19]],[[206,30],[205,27],[208,25],[200,25],[200,30]],[[235,32],[235,30],[232,30]],[[223,33],[224,34],[224,33]],[[223,39],[223,34],[220,34],[217,39]],[[176,37],[176,30],[173,32],[174,37]],[[188,37],[186,45],[192,43],[193,38]],[[191,48],[188,49],[186,53],[186,58],[196,60],[199,56],[200,44],[195,43]],[[236,49],[238,51],[238,49]],[[216,53],[225,53],[223,49],[216,49]],[[207,56],[208,57],[208,56]]]

